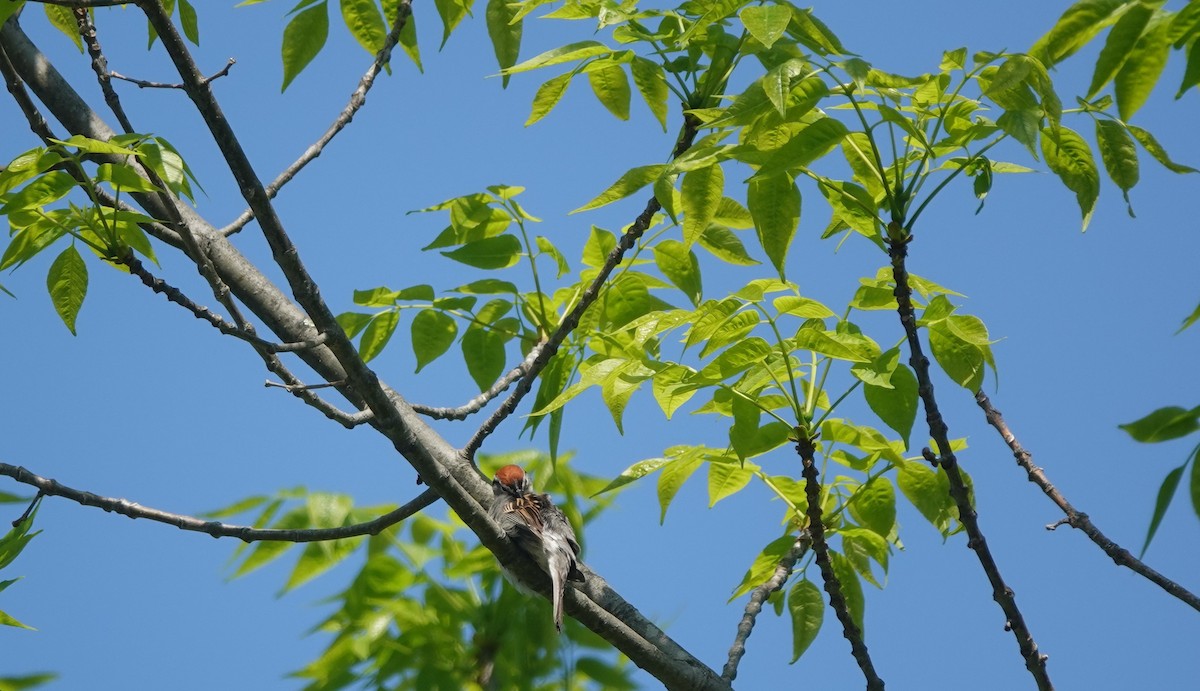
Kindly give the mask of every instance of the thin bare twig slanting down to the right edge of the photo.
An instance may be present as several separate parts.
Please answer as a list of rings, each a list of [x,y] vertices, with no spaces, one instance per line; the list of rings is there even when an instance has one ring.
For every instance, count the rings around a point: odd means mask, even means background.
[[[988,423],[996,428],[1000,437],[1004,440],[1004,444],[1013,451],[1013,457],[1016,458],[1016,464],[1025,469],[1028,474],[1030,482],[1033,482],[1045,492],[1046,497],[1050,498],[1062,512],[1066,513],[1066,518],[1057,521],[1046,525],[1046,529],[1054,530],[1058,525],[1067,524],[1072,528],[1082,530],[1085,535],[1096,545],[1104,551],[1105,554],[1112,558],[1118,566],[1126,566],[1133,570],[1135,573],[1144,576],[1151,583],[1158,585],[1163,590],[1166,590],[1170,595],[1178,597],[1193,609],[1200,611],[1200,597],[1196,597],[1194,593],[1187,588],[1180,585],[1175,581],[1163,576],[1158,571],[1154,571],[1147,566],[1142,560],[1138,559],[1129,553],[1128,549],[1121,547],[1112,540],[1110,540],[1100,529],[1092,523],[1092,519],[1087,517],[1087,513],[1076,510],[1067,501],[1062,492],[1055,487],[1050,479],[1046,477],[1045,471],[1033,464],[1033,455],[1021,446],[1021,443],[1016,440],[1016,437],[1008,428],[1008,423],[1004,422],[1004,417],[991,405],[991,399],[983,391],[976,392],[976,403],[983,409],[984,416],[988,419]]]

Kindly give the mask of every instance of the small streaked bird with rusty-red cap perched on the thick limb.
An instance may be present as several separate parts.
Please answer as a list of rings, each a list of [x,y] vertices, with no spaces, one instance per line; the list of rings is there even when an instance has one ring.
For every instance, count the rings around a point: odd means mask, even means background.
[[[584,581],[578,566],[580,542],[566,515],[554,506],[548,494],[533,491],[529,475],[520,465],[505,465],[496,471],[488,515],[550,576],[554,630],[562,633],[566,582]],[[527,590],[506,569],[504,575],[522,590]]]

